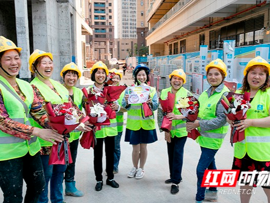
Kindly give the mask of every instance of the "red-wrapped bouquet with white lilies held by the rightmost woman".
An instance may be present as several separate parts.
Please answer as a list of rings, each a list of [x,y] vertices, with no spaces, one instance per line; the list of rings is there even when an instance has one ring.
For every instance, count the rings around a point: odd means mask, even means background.
[[[251,108],[250,104],[250,92],[244,92],[244,94],[237,94],[229,92],[227,96],[223,95],[221,104],[227,111],[227,117],[229,120],[233,120],[235,124],[240,123],[240,120],[246,118],[246,111]],[[242,141],[244,139],[244,131],[239,132],[237,127],[232,127],[230,143]]]

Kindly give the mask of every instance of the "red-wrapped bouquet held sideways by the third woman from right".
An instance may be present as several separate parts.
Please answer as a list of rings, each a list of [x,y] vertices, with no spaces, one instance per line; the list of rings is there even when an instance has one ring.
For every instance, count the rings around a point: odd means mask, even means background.
[[[165,100],[162,100],[159,98],[162,111],[163,111],[163,119],[162,119],[162,124],[161,124],[161,129],[165,132],[170,132],[171,127],[172,127],[172,120],[169,120],[166,115],[167,113],[171,113],[173,111],[174,107],[174,99],[175,95],[168,92],[168,96]]]

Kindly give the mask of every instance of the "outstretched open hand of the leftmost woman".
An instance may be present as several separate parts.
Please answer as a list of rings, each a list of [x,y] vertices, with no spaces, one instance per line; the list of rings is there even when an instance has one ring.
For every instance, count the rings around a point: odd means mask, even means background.
[[[50,141],[50,143],[54,145],[57,144],[55,141],[59,141],[59,143],[61,143],[64,140],[63,135],[58,134],[52,129],[40,129],[34,127],[32,135],[40,137],[41,139],[44,139],[46,141]],[[55,141],[53,141],[53,139]]]

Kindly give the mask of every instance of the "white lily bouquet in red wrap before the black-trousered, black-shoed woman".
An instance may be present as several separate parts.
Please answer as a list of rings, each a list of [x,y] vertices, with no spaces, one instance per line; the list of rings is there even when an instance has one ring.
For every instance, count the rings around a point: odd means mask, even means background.
[[[84,96],[86,97],[85,101],[85,112],[88,115],[88,120],[91,124],[96,126],[95,130],[100,130],[101,126],[110,125],[108,118],[108,108],[105,108],[105,98],[102,92],[94,92],[93,89],[90,90],[88,94],[85,88],[82,89]],[[93,131],[83,133],[80,144],[84,149],[94,149],[96,144],[96,137]]]

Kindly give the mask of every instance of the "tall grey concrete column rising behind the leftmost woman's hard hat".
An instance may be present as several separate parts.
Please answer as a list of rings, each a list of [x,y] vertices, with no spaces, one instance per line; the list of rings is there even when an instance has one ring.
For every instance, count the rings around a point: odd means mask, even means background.
[[[21,69],[19,76],[30,81],[31,73],[28,68],[29,49],[29,29],[27,0],[15,0],[17,46],[23,48],[21,53]]]

